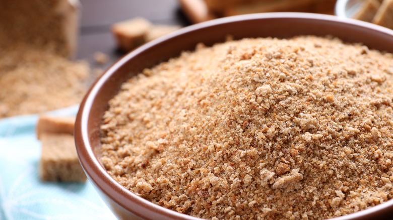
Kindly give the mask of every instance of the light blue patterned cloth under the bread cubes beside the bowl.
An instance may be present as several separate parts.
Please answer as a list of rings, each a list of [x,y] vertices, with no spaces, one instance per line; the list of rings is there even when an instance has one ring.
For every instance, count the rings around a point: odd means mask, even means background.
[[[75,115],[78,106],[50,115]],[[42,182],[37,115],[0,120],[0,219],[115,219],[89,181]]]

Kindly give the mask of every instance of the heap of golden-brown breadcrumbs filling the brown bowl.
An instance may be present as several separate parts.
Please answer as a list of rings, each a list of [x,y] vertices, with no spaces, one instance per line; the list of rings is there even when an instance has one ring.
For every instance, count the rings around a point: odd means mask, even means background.
[[[393,55],[329,37],[199,45],[123,84],[102,163],[211,219],[323,219],[393,195]]]

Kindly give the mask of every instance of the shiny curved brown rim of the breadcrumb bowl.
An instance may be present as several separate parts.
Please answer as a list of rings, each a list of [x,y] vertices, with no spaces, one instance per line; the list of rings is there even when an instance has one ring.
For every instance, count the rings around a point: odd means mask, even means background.
[[[167,208],[164,208],[162,206],[159,206],[157,204],[154,204],[148,200],[143,199],[142,197],[139,197],[138,195],[130,192],[127,190],[125,187],[123,187],[120,183],[118,183],[116,180],[114,180],[103,168],[97,157],[95,156],[95,153],[92,150],[92,146],[90,145],[90,136],[92,135],[91,132],[89,132],[89,114],[92,110],[92,105],[94,102],[94,99],[96,98],[98,91],[101,89],[101,87],[104,85],[104,83],[108,80],[110,80],[110,77],[112,74],[116,72],[116,70],[124,65],[130,58],[137,56],[141,52],[154,47],[157,44],[163,43],[167,41],[168,39],[174,38],[176,36],[183,35],[185,33],[189,33],[198,29],[204,29],[207,27],[212,27],[216,25],[221,25],[225,23],[232,23],[232,22],[238,22],[238,21],[246,21],[246,20],[258,20],[258,19],[293,19],[293,18],[300,18],[300,19],[312,19],[312,20],[322,20],[326,22],[335,22],[335,23],[345,23],[347,25],[355,25],[358,26],[359,28],[368,28],[372,29],[374,31],[379,31],[383,32],[387,35],[393,36],[393,30],[377,26],[374,24],[370,24],[367,22],[362,22],[358,20],[353,20],[353,19],[346,19],[346,18],[340,18],[336,16],[331,16],[331,15],[322,15],[322,14],[311,14],[311,13],[287,13],[287,12],[280,12],[280,13],[259,13],[259,14],[249,14],[249,15],[239,15],[239,16],[233,16],[233,17],[226,17],[226,18],[221,18],[221,19],[216,19],[200,24],[195,24],[191,25],[188,27],[184,27],[180,30],[177,30],[173,33],[170,33],[164,37],[161,37],[159,39],[153,40],[151,42],[148,42],[139,48],[129,52],[128,54],[124,55],[122,58],[120,58],[118,61],[116,61],[114,64],[112,64],[105,72],[102,74],[99,78],[96,79],[96,81],[92,84],[88,92],[86,93],[84,99],[82,100],[80,104],[80,108],[77,114],[77,119],[76,119],[76,124],[75,124],[75,142],[76,142],[76,148],[77,148],[77,153],[78,157],[80,160],[80,163],[85,171],[85,173],[88,176],[88,179],[90,182],[99,190],[105,193],[106,196],[108,196],[110,199],[112,199],[114,202],[125,208],[129,212],[135,213],[137,216],[150,219],[148,216],[146,216],[144,211],[150,211],[150,212],[157,212],[159,215],[157,216],[165,216],[166,218],[176,218],[176,219],[201,219],[198,217],[193,217],[190,215],[182,214]],[[93,132],[98,132],[99,130],[95,130]],[[103,185],[110,185],[111,188],[110,190],[106,190]],[[134,208],[129,208],[125,206],[127,202],[134,202],[136,206]],[[136,212],[135,209],[138,209]],[[386,211],[386,209],[391,209],[393,211],[393,199],[390,199],[386,202],[383,202],[379,205],[376,205],[374,207],[370,207],[365,210],[357,211],[348,215],[332,218],[335,220],[344,220],[344,219],[363,219],[363,217],[370,217],[376,212],[380,211]]]

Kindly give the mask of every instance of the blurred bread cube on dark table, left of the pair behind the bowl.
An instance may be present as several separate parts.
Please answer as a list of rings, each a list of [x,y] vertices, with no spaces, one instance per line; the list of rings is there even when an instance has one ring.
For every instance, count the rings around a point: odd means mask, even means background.
[[[112,25],[111,31],[120,50],[128,52],[145,43],[147,31],[152,24],[144,18],[134,18]]]

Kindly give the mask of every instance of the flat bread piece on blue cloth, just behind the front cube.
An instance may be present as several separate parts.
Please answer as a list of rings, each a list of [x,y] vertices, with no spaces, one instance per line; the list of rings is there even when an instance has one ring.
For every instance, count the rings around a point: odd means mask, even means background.
[[[37,139],[44,133],[64,133],[74,135],[75,117],[52,117],[41,115],[37,122]]]

